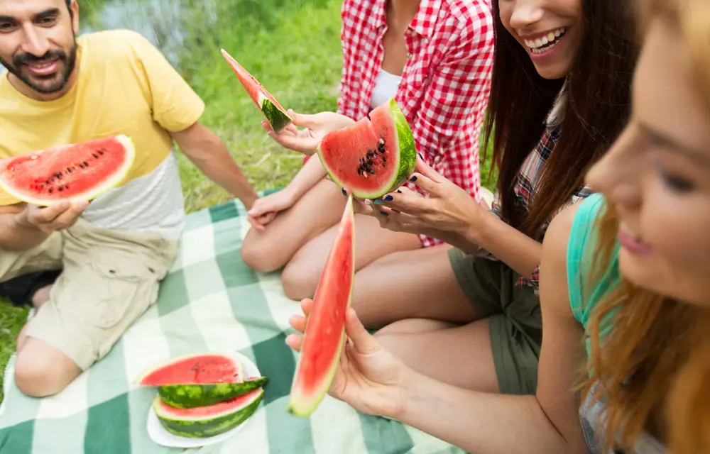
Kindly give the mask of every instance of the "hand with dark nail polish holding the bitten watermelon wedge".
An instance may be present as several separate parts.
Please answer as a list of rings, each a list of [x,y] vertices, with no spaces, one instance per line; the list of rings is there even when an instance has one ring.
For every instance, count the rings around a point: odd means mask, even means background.
[[[454,238],[468,238],[471,232],[475,233],[482,216],[488,214],[473,197],[439,175],[421,157],[417,157],[417,172],[410,181],[429,196],[401,187],[382,199],[366,201],[367,206],[360,202],[358,212],[375,216],[388,230],[422,234],[447,243]]]

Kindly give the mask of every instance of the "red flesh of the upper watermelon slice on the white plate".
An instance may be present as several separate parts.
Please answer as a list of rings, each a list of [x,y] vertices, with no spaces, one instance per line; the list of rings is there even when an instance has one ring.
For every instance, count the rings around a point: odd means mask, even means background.
[[[172,358],[143,372],[136,379],[143,386],[169,384],[241,383],[241,362],[228,355],[197,353]]]

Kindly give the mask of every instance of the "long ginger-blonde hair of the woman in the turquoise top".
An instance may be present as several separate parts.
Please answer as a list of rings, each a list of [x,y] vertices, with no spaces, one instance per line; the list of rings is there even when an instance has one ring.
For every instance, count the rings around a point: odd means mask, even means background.
[[[697,89],[710,109],[710,2],[641,0],[641,5],[648,6],[639,10],[644,24],[660,16],[680,31]],[[597,228],[592,283],[616,267],[618,218],[611,206]],[[593,289],[585,290],[589,295]],[[606,448],[633,452],[640,433],[649,431],[673,454],[710,453],[710,309],[664,298],[622,278],[592,310],[587,332],[591,358],[582,389],[603,383],[595,397],[608,404]]]

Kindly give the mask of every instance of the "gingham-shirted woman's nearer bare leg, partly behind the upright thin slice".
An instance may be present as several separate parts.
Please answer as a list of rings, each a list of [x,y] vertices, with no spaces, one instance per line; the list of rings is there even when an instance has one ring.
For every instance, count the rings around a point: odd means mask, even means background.
[[[340,196],[341,199],[344,197]],[[342,211],[339,217],[342,216]],[[320,279],[328,254],[335,240],[338,225],[309,240],[298,250],[283,270],[281,282],[285,294],[295,300],[311,298]],[[419,237],[411,233],[398,233],[380,227],[372,216],[355,215],[355,270],[366,269],[368,265],[383,256],[399,251],[421,248]],[[357,282],[359,273],[355,277]]]

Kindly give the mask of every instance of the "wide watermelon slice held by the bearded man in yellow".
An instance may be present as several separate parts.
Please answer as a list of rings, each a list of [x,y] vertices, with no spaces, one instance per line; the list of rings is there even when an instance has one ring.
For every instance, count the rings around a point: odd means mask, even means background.
[[[135,156],[126,135],[60,145],[0,160],[0,187],[38,206],[92,200],[128,175]]]

